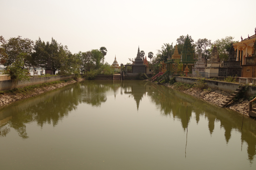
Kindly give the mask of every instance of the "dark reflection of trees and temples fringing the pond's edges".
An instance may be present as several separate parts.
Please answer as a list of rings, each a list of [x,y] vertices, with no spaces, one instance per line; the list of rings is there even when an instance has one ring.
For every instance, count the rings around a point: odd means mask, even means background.
[[[111,96],[108,93],[114,95]],[[227,145],[232,131],[237,131],[241,134],[241,143],[247,144],[248,159],[251,163],[255,157],[254,120],[246,118],[241,130],[241,115],[148,81],[83,81],[13,103],[0,110],[0,137],[8,136],[13,128],[22,139],[27,139],[29,134],[26,132],[26,125],[29,122],[36,122],[41,128],[44,124],[52,124],[54,127],[68,116],[70,111],[76,110],[79,104],[101,107],[108,98],[116,99],[117,95],[133,98],[136,104],[130,107],[136,107],[137,111],[140,110],[140,104],[144,98],[148,98],[163,116],[172,117],[173,121],[180,121],[184,132],[187,128],[187,114],[188,129],[193,116],[197,124],[204,118],[208,121],[210,136],[214,134],[216,128],[225,130],[224,138]],[[193,132],[190,131],[190,133]]]

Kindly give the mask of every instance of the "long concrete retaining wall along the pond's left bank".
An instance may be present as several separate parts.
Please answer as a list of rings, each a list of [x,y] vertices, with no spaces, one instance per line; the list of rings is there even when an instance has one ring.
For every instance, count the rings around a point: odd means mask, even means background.
[[[15,87],[22,88],[22,87],[26,87],[29,85],[38,85],[38,84],[42,84],[42,83],[49,83],[52,81],[67,80],[69,78],[73,78],[74,76],[75,75],[30,78],[30,81],[17,81],[16,86],[15,86],[14,80],[4,80],[4,81],[0,81],[0,91],[12,90]]]

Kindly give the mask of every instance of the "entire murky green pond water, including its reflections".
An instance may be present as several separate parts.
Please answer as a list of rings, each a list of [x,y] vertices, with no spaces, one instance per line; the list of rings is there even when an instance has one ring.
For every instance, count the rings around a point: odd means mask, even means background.
[[[0,110],[0,168],[255,169],[242,118],[147,81],[79,82]]]

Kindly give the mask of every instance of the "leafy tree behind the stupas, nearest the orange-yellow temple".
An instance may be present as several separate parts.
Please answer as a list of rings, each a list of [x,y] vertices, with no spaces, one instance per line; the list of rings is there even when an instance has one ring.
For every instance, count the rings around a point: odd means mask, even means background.
[[[222,39],[217,39],[214,41],[214,44],[216,45],[219,53],[219,57],[221,61],[227,61],[229,57],[229,51],[231,48],[231,43],[233,41],[234,37],[232,36],[226,36],[225,38]],[[238,41],[234,41],[233,43],[236,43]],[[213,44],[212,44],[213,48]]]

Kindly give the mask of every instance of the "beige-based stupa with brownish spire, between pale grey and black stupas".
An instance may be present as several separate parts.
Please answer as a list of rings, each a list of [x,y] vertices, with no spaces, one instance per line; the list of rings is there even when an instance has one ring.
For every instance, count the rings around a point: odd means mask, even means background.
[[[220,64],[219,53],[218,53],[216,45],[214,44],[214,47],[212,49],[211,59],[210,59],[210,62],[207,63],[205,72],[208,73],[208,75],[216,74],[216,75],[211,75],[211,76],[217,76],[219,73],[220,66],[221,66],[221,64]]]

